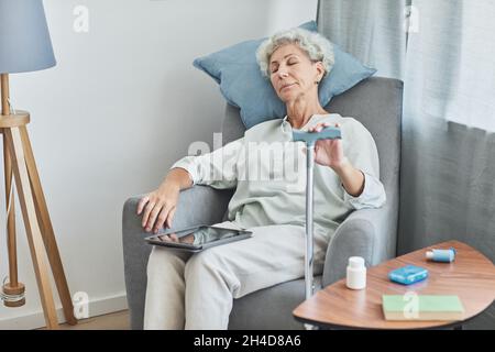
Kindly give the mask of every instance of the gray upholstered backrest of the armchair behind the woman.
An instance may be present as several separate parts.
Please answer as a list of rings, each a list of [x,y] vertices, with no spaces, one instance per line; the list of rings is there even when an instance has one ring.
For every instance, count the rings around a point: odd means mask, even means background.
[[[385,208],[391,221],[383,234],[387,243],[380,245],[374,256],[376,260],[391,257],[396,251],[398,221],[403,81],[383,77],[367,78],[334,97],[324,109],[356,119],[375,140],[380,156],[380,178],[387,195]],[[222,123],[223,144],[241,138],[244,131],[239,109],[227,105]]]

